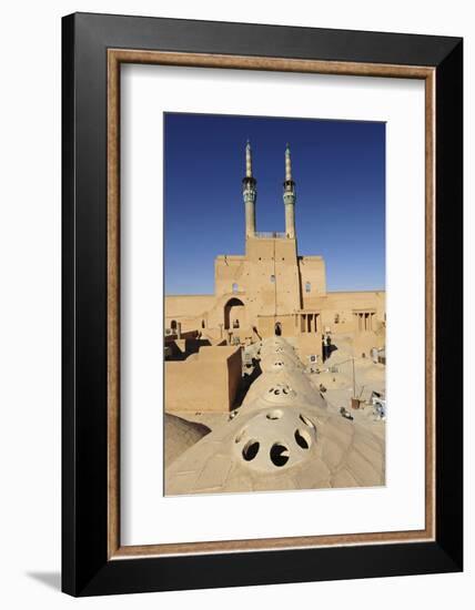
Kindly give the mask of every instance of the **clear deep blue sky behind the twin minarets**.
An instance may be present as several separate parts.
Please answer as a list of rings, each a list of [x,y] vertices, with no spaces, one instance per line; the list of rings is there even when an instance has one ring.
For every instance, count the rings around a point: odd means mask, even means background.
[[[326,262],[329,291],[385,286],[385,124],[165,113],[165,294],[212,294],[214,257],[243,254],[244,146],[257,231],[284,231],[284,152],[296,183],[299,254]]]

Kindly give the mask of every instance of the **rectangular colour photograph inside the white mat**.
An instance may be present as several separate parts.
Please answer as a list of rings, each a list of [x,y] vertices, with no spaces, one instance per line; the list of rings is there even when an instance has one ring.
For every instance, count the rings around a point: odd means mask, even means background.
[[[385,122],[163,133],[164,495],[385,486]]]

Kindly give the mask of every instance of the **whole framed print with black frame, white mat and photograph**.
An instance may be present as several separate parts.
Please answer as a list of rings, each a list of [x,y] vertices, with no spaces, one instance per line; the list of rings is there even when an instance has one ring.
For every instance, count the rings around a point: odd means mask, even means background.
[[[63,18],[65,592],[462,570],[462,49]]]

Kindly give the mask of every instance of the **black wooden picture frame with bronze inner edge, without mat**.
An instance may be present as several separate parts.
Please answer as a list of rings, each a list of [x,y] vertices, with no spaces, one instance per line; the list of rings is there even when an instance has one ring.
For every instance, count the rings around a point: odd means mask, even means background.
[[[73,596],[462,570],[462,39],[77,13],[62,23],[62,588]],[[426,527],[120,541],[122,63],[425,81]]]

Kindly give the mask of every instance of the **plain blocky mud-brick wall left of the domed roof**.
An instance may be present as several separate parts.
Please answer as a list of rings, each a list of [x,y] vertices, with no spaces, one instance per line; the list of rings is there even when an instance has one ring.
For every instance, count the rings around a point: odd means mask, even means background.
[[[183,362],[165,362],[165,411],[229,411],[241,380],[241,349],[202,347]]]

